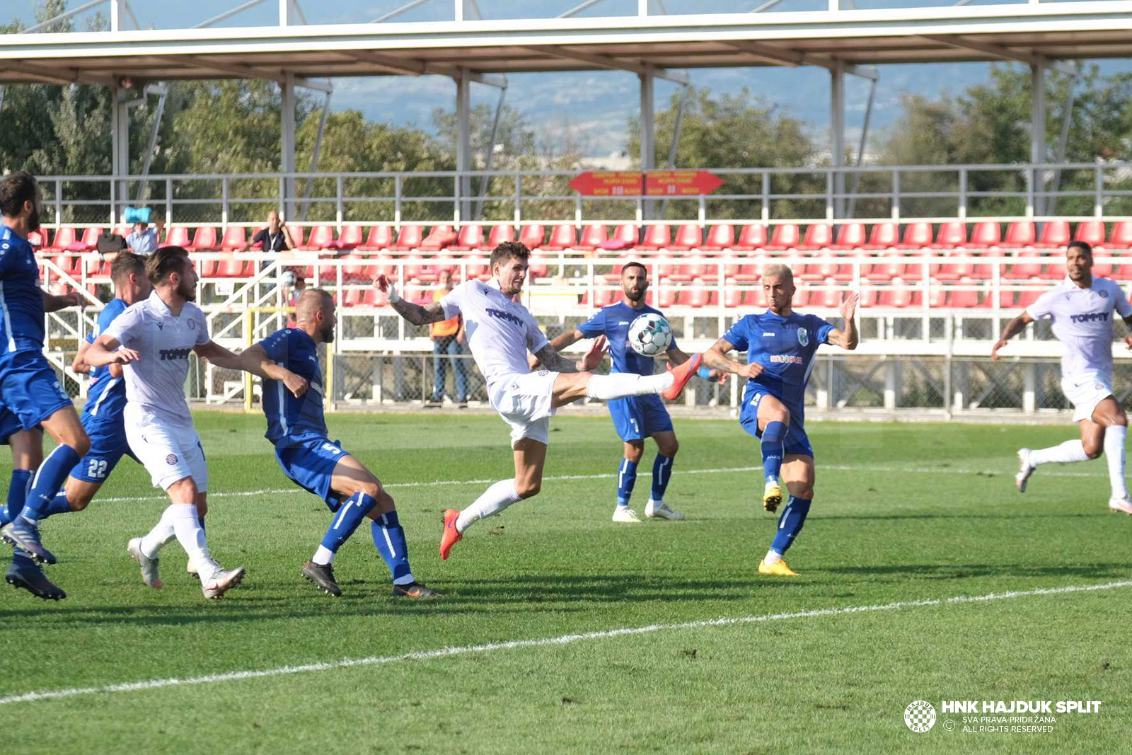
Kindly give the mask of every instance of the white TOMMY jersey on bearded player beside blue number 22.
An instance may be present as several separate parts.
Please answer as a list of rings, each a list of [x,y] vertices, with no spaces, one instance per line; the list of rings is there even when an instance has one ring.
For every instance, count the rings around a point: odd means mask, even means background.
[[[114,318],[103,335],[140,355],[123,368],[126,401],[161,421],[192,426],[185,401],[189,353],[208,343],[208,326],[200,308],[186,302],[177,317],[156,291]]]

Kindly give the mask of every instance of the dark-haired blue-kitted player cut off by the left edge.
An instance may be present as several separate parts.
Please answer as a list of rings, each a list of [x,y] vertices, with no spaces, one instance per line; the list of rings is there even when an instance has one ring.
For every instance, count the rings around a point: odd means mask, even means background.
[[[78,293],[57,297],[40,288],[40,268],[27,235],[40,228],[42,209],[43,195],[31,173],[0,180],[0,440],[11,446],[14,462],[9,522],[0,537],[23,551],[5,580],[40,598],[59,600],[66,593],[35,564],[55,563],[40,541],[38,521],[91,440],[43,355],[44,318],[45,312],[83,306],[85,299]],[[41,428],[59,444],[46,458]]]

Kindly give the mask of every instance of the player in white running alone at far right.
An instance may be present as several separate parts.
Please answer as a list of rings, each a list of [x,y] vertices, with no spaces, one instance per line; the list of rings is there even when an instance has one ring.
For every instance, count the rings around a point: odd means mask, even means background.
[[[1026,492],[1026,483],[1039,465],[1083,462],[1104,453],[1112,484],[1108,508],[1132,514],[1124,482],[1129,420],[1113,395],[1113,312],[1132,326],[1132,304],[1116,283],[1092,276],[1092,247],[1084,241],[1073,241],[1065,249],[1065,269],[1067,277],[1063,283],[1038,297],[1006,324],[990,358],[998,359],[998,350],[1028,324],[1050,318],[1054,335],[1065,345],[1062,392],[1073,403],[1073,421],[1081,428],[1081,439],[1049,448],[1019,448],[1021,469],[1014,482]],[[1132,336],[1125,336],[1124,343],[1132,349]]]

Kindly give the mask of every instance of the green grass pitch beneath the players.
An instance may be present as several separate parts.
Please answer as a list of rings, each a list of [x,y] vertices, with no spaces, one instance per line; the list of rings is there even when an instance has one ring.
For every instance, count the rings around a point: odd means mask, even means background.
[[[196,421],[209,546],[247,578],[205,601],[174,542],[165,587],[145,587],[125,546],[164,503],[123,461],[89,509],[44,526],[68,599],[0,585],[0,750],[1127,752],[1132,584],[1113,583],[1130,580],[1132,518],[1107,513],[1104,461],[1013,488],[1015,449],[1071,427],[813,423],[817,495],[788,554],[801,576],[783,580],[757,574],[775,517],[758,506],[757,445],[734,421],[678,418],[667,500],[688,518],[625,525],[609,518],[609,420],[556,418],[542,494],[441,561],[440,511],[512,473],[507,428],[484,414],[333,415],[332,438],[396,498],[418,578],[447,594],[418,603],[391,597],[367,526],[336,560],[345,595],[315,591],[299,567],[329,514],[280,472],[263,417]],[[874,610],[826,610],[859,607]],[[769,618],[695,624],[743,617]],[[610,634],[642,627],[653,629]],[[585,633],[599,634],[538,643]],[[457,651],[432,652],[445,647]],[[240,671],[267,674],[199,679]],[[197,683],[9,702],[168,679]],[[916,700],[936,706],[926,733],[904,726]],[[1101,707],[1058,714],[1052,731],[979,733],[945,700]]]

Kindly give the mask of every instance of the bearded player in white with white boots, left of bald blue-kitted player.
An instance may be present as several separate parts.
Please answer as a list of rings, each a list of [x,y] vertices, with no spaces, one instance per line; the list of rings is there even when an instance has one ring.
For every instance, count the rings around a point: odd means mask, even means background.
[[[143,581],[160,589],[157,551],[177,538],[200,575],[205,598],[221,598],[245,570],[222,568],[205,541],[200,517],[208,511],[208,470],[185,401],[185,378],[190,352],[204,359],[234,354],[209,338],[204,312],[192,303],[197,274],[185,249],[158,249],[146,260],[146,275],[154,286],[149,298],[119,315],[86,351],[91,366],[125,366],[126,437],[154,487],[172,501],[127,550]]]

